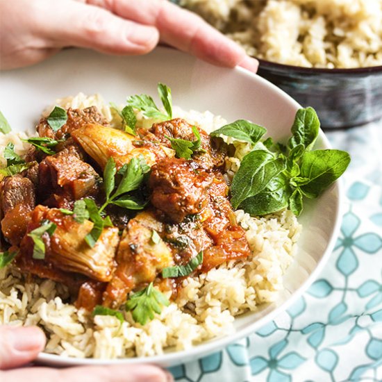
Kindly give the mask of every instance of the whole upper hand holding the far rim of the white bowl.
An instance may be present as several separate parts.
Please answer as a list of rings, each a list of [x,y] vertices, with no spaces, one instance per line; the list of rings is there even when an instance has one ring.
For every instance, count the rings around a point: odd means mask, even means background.
[[[167,0],[0,0],[0,69],[32,65],[64,47],[139,55],[158,42],[215,65],[258,62],[199,16]]]

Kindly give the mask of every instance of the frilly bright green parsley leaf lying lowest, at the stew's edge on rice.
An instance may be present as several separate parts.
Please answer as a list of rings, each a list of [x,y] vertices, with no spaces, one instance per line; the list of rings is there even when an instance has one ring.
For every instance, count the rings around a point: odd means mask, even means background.
[[[161,313],[161,306],[169,306],[169,300],[153,287],[153,283],[132,294],[126,302],[126,310],[131,310],[133,320],[141,325],[153,319],[154,313]]]

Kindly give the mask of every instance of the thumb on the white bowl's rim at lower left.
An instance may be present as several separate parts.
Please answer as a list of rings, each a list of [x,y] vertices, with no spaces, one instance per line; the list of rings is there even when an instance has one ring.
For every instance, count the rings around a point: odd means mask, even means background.
[[[34,360],[45,346],[45,335],[36,326],[0,326],[0,369]]]

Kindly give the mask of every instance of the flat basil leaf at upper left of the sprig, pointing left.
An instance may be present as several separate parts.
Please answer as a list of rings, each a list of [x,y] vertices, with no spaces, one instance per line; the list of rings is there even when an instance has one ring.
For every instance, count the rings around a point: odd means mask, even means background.
[[[267,132],[263,126],[253,124],[245,119],[238,119],[231,124],[222,126],[210,133],[211,136],[226,135],[226,137],[235,138],[243,142],[256,144],[261,137]]]

